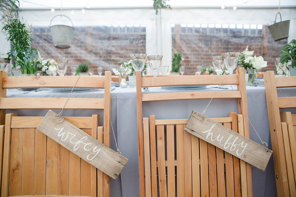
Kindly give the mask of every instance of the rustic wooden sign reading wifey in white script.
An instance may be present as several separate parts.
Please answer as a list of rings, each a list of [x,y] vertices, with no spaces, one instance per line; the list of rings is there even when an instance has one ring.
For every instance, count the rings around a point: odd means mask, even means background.
[[[113,179],[118,177],[128,161],[51,110],[37,129]]]

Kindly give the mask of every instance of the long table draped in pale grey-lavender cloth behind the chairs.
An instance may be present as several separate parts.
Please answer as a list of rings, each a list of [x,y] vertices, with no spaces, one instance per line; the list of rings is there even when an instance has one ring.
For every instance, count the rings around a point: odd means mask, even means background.
[[[234,86],[233,89],[236,89]],[[149,92],[160,93],[180,90],[164,90],[159,87],[149,88]],[[231,87],[229,86],[229,89]],[[228,91],[218,89],[218,91]],[[183,90],[182,90],[183,91]],[[187,91],[216,91],[207,86],[202,90]],[[30,92],[20,94],[22,91],[12,89],[7,90],[7,97],[68,97],[68,93],[59,93],[52,90]],[[93,91],[97,98],[103,98],[104,90]],[[92,92],[72,92],[70,97],[94,98]],[[279,96],[296,96],[295,91],[288,91],[286,88],[278,90]],[[269,122],[265,98],[264,87],[247,86],[249,120],[258,132],[262,141],[266,142],[271,149],[269,134]],[[156,101],[143,103],[143,117],[155,115],[156,119],[188,119],[191,111],[204,111],[209,103],[208,100],[181,100],[181,101]],[[237,100],[213,99],[208,106],[205,115],[209,118],[227,117],[228,112],[238,113]],[[46,106],[46,103],[44,103]],[[44,116],[48,110],[7,110],[6,113],[18,113],[26,116]],[[59,113],[60,110],[53,110]],[[293,113],[296,113],[295,111]],[[64,110],[63,116],[90,116],[100,115],[100,125],[103,125],[103,111],[99,110]],[[121,154],[129,159],[127,165],[122,170],[121,175],[116,179],[111,179],[111,196],[133,197],[139,196],[138,180],[138,137],[137,137],[137,110],[136,110],[136,88],[117,87],[111,92],[111,123],[114,129],[115,138]],[[259,137],[249,123],[250,139],[261,144]],[[115,140],[111,130],[111,148],[116,150]],[[265,171],[261,171],[252,166],[253,196],[272,197],[277,196],[275,186],[275,175],[273,170],[273,158],[271,156]]]

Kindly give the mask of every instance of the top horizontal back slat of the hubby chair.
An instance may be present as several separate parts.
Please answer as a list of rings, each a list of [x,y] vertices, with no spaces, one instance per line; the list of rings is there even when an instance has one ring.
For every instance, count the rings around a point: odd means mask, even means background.
[[[237,75],[178,75],[163,76],[158,78],[144,77],[142,78],[142,87],[158,87],[158,86],[190,86],[190,85],[227,85],[239,84]],[[224,78],[224,79],[223,79]],[[223,80],[223,81],[222,81]]]

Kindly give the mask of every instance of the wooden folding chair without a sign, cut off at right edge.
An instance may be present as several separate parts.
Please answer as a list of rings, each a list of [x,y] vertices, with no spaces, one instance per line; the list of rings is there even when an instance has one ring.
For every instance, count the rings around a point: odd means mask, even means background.
[[[296,77],[275,77],[274,71],[263,76],[278,196],[296,196],[296,115],[280,112],[296,108],[296,97],[278,97],[277,92],[277,88],[289,87],[295,93]]]

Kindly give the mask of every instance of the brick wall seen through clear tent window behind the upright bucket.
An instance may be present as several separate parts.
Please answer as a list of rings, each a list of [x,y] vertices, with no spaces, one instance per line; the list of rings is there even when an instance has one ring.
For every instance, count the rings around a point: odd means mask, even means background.
[[[72,45],[68,49],[54,47],[48,27],[32,29],[32,46],[44,58],[68,59],[70,66],[87,61],[90,71],[97,74],[97,66],[105,70],[118,68],[119,61],[128,61],[129,54],[146,53],[146,27],[75,27]]]

